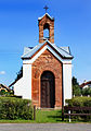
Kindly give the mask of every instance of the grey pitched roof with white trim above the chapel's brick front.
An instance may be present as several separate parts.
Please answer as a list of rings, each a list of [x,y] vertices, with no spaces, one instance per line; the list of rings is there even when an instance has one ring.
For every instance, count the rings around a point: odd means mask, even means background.
[[[32,49],[29,49],[28,52],[24,53],[22,56],[22,59],[32,59],[36,55],[40,55],[42,49],[49,49],[52,53],[55,53],[61,59],[73,59],[73,56],[70,52],[55,46],[55,44],[51,44],[50,41],[44,41],[43,44],[39,44]]]

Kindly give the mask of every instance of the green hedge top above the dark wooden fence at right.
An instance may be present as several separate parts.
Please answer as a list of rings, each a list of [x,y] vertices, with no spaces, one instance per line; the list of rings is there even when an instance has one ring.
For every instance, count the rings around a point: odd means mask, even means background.
[[[74,97],[72,99],[66,99],[66,104],[68,104],[68,106],[91,107],[91,97]]]

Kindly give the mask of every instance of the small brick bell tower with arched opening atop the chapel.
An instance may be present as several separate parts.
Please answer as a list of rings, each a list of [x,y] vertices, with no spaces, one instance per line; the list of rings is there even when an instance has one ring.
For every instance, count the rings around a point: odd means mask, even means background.
[[[54,44],[54,17],[46,13],[42,17],[38,19],[39,22],[39,43],[49,40]],[[44,34],[46,33],[46,34]]]

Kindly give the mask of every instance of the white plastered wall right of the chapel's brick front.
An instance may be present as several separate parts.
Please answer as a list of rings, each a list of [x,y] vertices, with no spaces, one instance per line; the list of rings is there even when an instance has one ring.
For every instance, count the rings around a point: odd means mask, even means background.
[[[73,97],[72,92],[72,63],[63,63],[63,92],[64,92],[64,105],[65,99],[70,99]]]

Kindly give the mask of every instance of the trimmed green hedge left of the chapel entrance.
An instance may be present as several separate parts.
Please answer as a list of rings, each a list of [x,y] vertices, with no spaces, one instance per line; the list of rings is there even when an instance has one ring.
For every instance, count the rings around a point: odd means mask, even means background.
[[[32,119],[31,102],[14,97],[0,97],[0,119]]]

